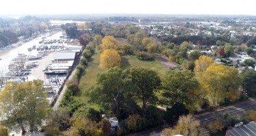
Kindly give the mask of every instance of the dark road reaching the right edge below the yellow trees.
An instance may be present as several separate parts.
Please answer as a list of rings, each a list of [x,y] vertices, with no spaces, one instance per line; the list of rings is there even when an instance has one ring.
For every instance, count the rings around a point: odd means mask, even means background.
[[[216,118],[220,118],[223,114],[240,114],[247,109],[256,108],[256,101],[254,99],[250,99],[248,101],[244,101],[242,103],[231,105],[229,107],[224,107],[222,109],[216,109],[213,112],[206,112],[203,114],[196,115],[195,117],[200,120],[200,122],[212,122],[216,120]]]

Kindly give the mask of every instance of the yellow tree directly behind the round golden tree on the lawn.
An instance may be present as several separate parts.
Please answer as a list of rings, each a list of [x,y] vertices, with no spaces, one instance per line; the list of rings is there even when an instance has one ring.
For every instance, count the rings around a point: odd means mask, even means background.
[[[101,50],[118,49],[118,41],[114,36],[107,35],[102,39]]]

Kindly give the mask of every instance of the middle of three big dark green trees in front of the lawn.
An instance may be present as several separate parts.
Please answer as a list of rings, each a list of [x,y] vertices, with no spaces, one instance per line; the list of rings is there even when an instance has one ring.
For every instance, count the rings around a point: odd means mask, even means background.
[[[135,87],[134,97],[142,101],[143,114],[145,114],[147,105],[156,99],[154,92],[161,80],[155,71],[144,68],[131,69],[130,76]]]

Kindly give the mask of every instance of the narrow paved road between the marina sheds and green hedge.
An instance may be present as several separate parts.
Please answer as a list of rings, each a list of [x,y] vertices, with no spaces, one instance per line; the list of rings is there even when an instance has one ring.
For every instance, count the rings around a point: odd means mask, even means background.
[[[63,97],[63,95],[64,95],[64,93],[65,93],[65,91],[66,91],[66,84],[68,83],[68,81],[71,81],[71,80],[73,79],[73,75],[75,75],[75,69],[77,68],[78,63],[79,63],[79,59],[77,59],[77,60],[75,61],[75,65],[74,65],[74,67],[73,67],[73,69],[72,69],[71,75],[68,77],[68,80],[66,80],[66,82],[64,83],[65,85],[63,86],[62,90],[60,90],[60,91],[61,91],[61,92],[60,92],[60,95],[59,95],[59,97],[57,97],[57,101],[56,101],[55,104],[53,105],[53,109],[54,109],[54,110],[57,109],[57,107],[58,107],[59,104],[60,104],[60,101],[62,100],[62,97]]]

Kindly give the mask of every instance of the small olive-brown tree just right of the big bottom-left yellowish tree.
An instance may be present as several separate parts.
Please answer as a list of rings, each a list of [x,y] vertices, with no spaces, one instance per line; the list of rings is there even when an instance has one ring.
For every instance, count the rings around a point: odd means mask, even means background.
[[[47,126],[57,127],[60,131],[65,131],[70,126],[69,119],[68,111],[60,107],[47,115]]]

